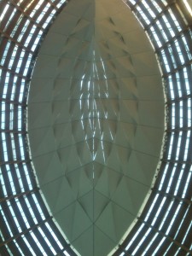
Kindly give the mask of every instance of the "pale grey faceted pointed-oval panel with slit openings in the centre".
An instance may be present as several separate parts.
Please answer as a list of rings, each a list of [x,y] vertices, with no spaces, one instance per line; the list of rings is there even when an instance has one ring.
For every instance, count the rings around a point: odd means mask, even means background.
[[[61,12],[32,75],[28,132],[64,236],[81,255],[107,255],[139,216],[164,132],[157,61],[125,3],[71,1]]]

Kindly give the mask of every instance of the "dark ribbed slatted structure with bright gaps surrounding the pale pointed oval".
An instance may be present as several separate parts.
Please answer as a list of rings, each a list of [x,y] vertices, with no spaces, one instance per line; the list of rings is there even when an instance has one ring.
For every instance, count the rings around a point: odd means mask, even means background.
[[[151,195],[113,255],[191,255],[190,2],[130,0],[125,4],[148,34],[160,63],[166,137]],[[76,255],[39,189],[26,126],[33,67],[49,26],[65,8],[61,0],[0,2],[2,255]]]

